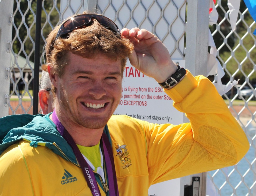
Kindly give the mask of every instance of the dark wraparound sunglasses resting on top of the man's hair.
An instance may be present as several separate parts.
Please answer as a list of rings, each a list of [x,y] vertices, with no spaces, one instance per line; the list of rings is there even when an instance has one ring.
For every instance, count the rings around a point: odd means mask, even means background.
[[[55,40],[57,40],[59,37],[67,39],[73,30],[91,26],[93,23],[92,19],[97,20],[103,27],[118,34],[118,36],[121,36],[118,26],[109,18],[97,14],[81,14],[63,22]]]

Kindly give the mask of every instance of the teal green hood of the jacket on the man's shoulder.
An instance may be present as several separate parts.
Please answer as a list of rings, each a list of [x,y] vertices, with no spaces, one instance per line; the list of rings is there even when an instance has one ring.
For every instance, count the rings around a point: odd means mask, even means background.
[[[59,134],[49,115],[20,114],[0,118],[0,154],[18,140],[26,140],[30,141],[30,146],[46,146],[64,159],[78,164],[72,148]]]

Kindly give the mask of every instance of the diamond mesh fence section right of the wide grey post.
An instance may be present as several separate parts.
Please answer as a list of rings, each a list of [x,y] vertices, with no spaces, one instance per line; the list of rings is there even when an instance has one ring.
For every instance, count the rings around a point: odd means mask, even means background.
[[[246,132],[250,149],[246,156],[235,166],[208,172],[216,195],[256,195],[255,183],[255,36],[252,32],[256,24],[248,9],[241,1],[236,30],[231,31],[227,1],[218,1],[216,8],[218,22],[211,32],[218,50],[219,59],[225,77],[222,83],[239,80],[238,84],[223,95],[227,99],[230,111]]]

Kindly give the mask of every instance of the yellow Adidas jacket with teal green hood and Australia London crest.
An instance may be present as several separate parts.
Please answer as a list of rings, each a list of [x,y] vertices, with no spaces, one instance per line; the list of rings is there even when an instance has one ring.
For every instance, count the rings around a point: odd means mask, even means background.
[[[249,149],[246,135],[207,78],[187,72],[165,92],[189,123],[159,125],[113,115],[104,128],[119,195],[147,195],[152,184],[234,165]],[[0,195],[92,195],[49,114],[1,118],[0,142]],[[108,195],[97,181],[101,195]]]

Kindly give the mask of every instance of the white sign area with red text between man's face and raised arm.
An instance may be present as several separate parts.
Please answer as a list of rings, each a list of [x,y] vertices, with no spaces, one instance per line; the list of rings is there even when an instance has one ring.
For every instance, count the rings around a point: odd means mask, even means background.
[[[185,60],[174,61],[185,66]],[[173,107],[173,100],[153,78],[142,74],[130,63],[127,63],[123,76],[122,98],[114,114],[158,124],[182,123],[183,113]]]

